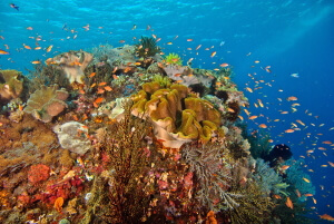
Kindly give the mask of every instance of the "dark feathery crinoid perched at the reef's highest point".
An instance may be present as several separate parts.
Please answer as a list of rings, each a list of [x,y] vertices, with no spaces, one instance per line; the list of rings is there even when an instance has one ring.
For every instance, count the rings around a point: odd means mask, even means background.
[[[154,38],[141,37],[140,42],[136,45],[137,53],[140,58],[153,57],[157,52],[160,52],[160,48],[157,46],[157,42]]]

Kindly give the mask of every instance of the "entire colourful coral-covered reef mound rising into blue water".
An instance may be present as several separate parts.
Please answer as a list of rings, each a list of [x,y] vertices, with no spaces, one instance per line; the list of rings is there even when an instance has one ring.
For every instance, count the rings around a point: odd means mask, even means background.
[[[164,60],[157,42],[58,55],[35,65],[29,88],[14,71],[22,89],[1,98],[1,223],[308,221],[310,176],[287,157],[269,167],[269,136],[236,123],[248,101],[232,67]]]

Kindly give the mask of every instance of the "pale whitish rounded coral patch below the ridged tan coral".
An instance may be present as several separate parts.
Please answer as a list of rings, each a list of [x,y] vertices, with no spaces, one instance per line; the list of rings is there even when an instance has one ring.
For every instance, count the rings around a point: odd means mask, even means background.
[[[90,140],[87,138],[88,129],[77,121],[69,121],[53,127],[62,148],[84,155],[90,149]]]

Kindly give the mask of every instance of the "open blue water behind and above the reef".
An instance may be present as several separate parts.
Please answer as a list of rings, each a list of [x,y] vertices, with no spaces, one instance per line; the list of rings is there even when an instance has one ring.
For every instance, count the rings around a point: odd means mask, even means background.
[[[161,38],[158,45],[166,53],[177,52],[184,61],[194,58],[193,67],[229,64],[239,89],[262,87],[252,94],[245,89],[248,110],[261,116],[247,120],[249,128],[266,124],[273,145],[285,143],[295,158],[305,156],[305,171],[314,171],[308,174],[316,186],[317,203],[310,204],[316,207],[315,215],[334,216],[334,167],[327,163],[334,163],[334,146],[322,144],[334,143],[333,1],[18,0],[1,1],[0,14],[0,49],[10,52],[0,56],[1,69],[28,74],[35,60],[97,45],[132,45],[153,35]],[[41,50],[33,50],[37,43]],[[52,50],[46,52],[49,46]],[[213,51],[216,55],[210,57]],[[286,100],[291,96],[297,101]],[[299,104],[296,111],[294,103]],[[294,124],[301,130],[286,134]],[[307,156],[308,149],[314,153]]]

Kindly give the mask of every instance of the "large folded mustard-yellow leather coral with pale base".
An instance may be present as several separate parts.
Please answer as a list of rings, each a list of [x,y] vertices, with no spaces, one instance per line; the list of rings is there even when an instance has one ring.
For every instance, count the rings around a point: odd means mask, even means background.
[[[214,106],[190,95],[183,85],[161,88],[156,81],[147,82],[131,99],[132,115],[150,118],[155,136],[165,147],[179,148],[196,139],[208,142],[220,126],[220,114]]]

